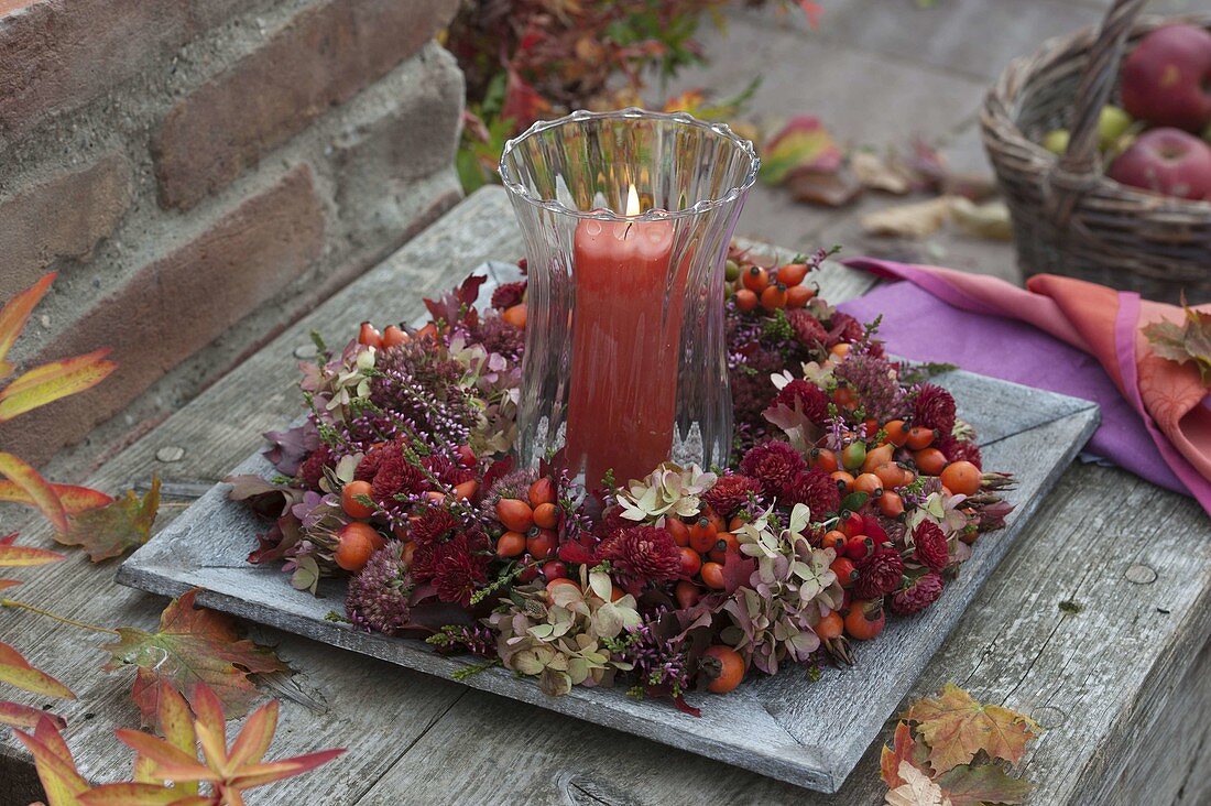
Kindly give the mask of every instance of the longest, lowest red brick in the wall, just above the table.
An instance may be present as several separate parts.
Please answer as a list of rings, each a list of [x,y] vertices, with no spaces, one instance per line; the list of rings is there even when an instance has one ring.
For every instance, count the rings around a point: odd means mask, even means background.
[[[323,230],[304,166],[145,265],[30,362],[110,347],[119,368],[90,391],[0,425],[0,445],[38,462],[82,439],[304,274],[323,250]]]

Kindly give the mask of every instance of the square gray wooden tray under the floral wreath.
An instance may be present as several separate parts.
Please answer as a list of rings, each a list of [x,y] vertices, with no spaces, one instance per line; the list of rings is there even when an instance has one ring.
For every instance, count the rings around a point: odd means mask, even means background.
[[[727,696],[695,694],[690,699],[702,709],[698,719],[620,690],[576,687],[566,697],[547,697],[534,681],[503,669],[472,675],[466,685],[809,789],[837,791],[1098,422],[1097,406],[1077,398],[966,372],[948,373],[939,383],[954,393],[960,417],[976,428],[986,467],[1017,476],[1018,486],[1008,496],[1016,509],[1005,530],[980,538],[975,555],[934,607],[890,619],[876,641],[857,645],[855,667],[826,669],[815,684],[788,669],[746,681]],[[274,470],[258,453],[234,473],[269,478]],[[206,492],[136,551],[117,581],[165,595],[201,588],[199,601],[207,607],[427,674],[448,678],[472,662],[437,656],[420,641],[327,621],[331,611],[343,612],[344,583],[323,581],[315,598],[291,588],[277,567],[248,565],[265,524],[228,501],[228,490],[219,484]]]

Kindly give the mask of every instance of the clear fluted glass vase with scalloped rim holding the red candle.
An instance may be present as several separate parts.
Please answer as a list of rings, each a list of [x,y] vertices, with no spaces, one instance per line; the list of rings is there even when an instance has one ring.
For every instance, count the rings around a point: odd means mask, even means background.
[[[731,447],[724,261],[757,176],[727,126],[578,112],[505,145],[529,273],[520,458],[597,487]]]

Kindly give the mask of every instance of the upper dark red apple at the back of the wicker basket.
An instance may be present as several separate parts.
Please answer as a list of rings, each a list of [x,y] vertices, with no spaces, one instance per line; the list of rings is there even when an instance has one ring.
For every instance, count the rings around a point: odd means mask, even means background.
[[[1199,131],[1211,121],[1211,33],[1165,25],[1123,63],[1123,108],[1155,126]]]

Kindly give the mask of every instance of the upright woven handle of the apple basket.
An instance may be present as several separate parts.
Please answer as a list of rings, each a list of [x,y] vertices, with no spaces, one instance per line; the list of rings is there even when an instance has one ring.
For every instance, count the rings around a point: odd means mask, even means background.
[[[1115,0],[1089,50],[1089,63],[1077,87],[1077,118],[1069,130],[1068,149],[1048,176],[1046,205],[1061,228],[1067,228],[1077,201],[1102,175],[1097,124],[1119,75],[1123,46],[1147,1]]]

